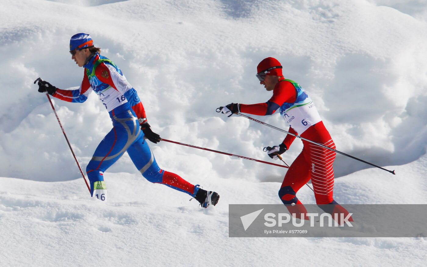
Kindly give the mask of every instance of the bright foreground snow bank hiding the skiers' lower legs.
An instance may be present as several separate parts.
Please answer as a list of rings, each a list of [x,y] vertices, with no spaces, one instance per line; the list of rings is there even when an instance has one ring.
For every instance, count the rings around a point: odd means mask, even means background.
[[[399,167],[413,178],[401,188],[401,192],[412,191],[411,195],[391,193],[392,185],[405,180],[405,175],[364,170],[337,180],[336,199],[401,203],[397,195],[407,203],[426,204],[426,161],[424,156]],[[2,265],[190,266],[207,261],[217,266],[269,266],[285,261],[291,265],[421,266],[426,260],[423,238],[228,238],[227,204],[280,203],[275,193],[280,183],[216,180],[221,202],[202,210],[189,197],[138,175],[105,175],[109,177],[108,203],[88,200],[83,179],[46,183],[0,178],[4,185],[0,192]],[[314,203],[307,187],[299,197]]]

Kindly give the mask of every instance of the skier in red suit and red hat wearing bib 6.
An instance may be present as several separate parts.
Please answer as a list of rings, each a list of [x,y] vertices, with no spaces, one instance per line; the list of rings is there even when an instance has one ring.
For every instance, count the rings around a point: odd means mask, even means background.
[[[279,109],[281,116],[290,126],[290,133],[298,134],[305,139],[329,148],[336,148],[313,101],[295,81],[283,77],[282,66],[277,59],[271,57],[263,59],[257,66],[256,76],[267,91],[273,91],[273,96],[264,103],[231,103],[221,107],[222,113],[234,114],[241,112],[267,116],[272,115]],[[273,146],[268,151],[269,157],[277,159],[278,154],[283,154],[290,148],[294,139],[295,136],[287,134],[280,145]],[[334,174],[332,165],[336,153],[304,140],[302,142],[304,148],[290,165],[279,190],[281,201],[284,204],[302,204],[296,197],[296,193],[311,179],[316,204],[338,204],[333,200]],[[330,208],[335,208],[336,206],[339,205],[330,206]],[[328,206],[321,207],[331,214],[343,209],[341,206],[338,207],[339,210],[330,209]],[[294,208],[288,206],[288,208],[292,211],[298,209],[301,213],[306,212],[303,205],[298,205]],[[345,211],[345,209],[343,210]]]

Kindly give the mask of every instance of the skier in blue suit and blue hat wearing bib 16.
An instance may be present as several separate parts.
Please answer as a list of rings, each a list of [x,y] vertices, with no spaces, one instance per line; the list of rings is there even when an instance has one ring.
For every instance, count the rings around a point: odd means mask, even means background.
[[[150,182],[185,192],[196,198],[204,208],[215,206],[219,194],[201,189],[199,185],[193,185],[158,166],[146,139],[158,143],[161,141],[160,136],[148,124],[136,90],[111,60],[100,55],[100,49],[94,46],[91,36],[85,33],[73,35],[70,39],[70,53],[76,64],[85,68],[80,88],[62,90],[39,80],[38,91],[67,102],[82,103],[93,90],[108,111],[113,128],[99,143],[86,168],[92,197],[106,200],[104,172],[126,151],[135,167]]]

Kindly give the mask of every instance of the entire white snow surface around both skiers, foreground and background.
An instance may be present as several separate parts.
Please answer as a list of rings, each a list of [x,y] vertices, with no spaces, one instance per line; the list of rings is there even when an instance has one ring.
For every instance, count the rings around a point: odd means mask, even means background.
[[[1,266],[424,266],[423,238],[228,238],[228,204],[281,203],[286,170],[171,143],[168,171],[221,195],[216,207],[146,181],[124,155],[88,190],[41,77],[75,89],[69,38],[91,34],[137,90],[150,125],[178,142],[269,161],[284,134],[216,107],[266,102],[256,66],[272,56],[316,103],[339,155],[339,203],[427,204],[427,4],[423,0],[1,0]],[[54,99],[85,170],[111,121],[96,94]],[[287,129],[278,114],[254,116]],[[301,141],[284,159],[291,163]],[[313,204],[313,192],[298,192]]]

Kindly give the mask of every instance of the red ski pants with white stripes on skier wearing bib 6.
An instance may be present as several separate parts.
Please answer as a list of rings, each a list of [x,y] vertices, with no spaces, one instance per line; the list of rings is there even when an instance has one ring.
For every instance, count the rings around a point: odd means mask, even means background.
[[[308,138],[307,138],[308,139]],[[303,141],[304,148],[294,160],[287,171],[279,195],[286,203],[301,202],[295,196],[296,192],[310,179],[313,184],[316,204],[329,204],[333,202],[333,160],[336,153],[310,142]],[[335,149],[332,139],[322,142],[329,148]]]

